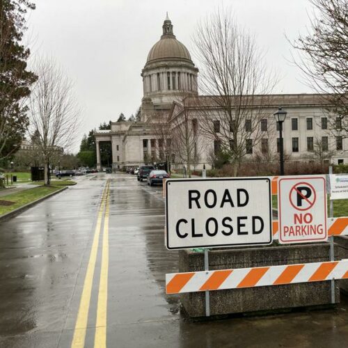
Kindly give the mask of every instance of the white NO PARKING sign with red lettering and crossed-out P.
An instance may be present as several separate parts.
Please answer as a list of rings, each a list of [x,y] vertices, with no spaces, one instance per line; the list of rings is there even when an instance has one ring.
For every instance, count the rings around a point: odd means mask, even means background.
[[[326,241],[325,177],[281,177],[278,214],[281,244]]]

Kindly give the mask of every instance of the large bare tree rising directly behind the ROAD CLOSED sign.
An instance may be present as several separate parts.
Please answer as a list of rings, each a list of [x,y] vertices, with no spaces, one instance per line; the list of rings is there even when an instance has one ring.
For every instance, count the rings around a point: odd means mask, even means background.
[[[239,29],[230,11],[217,10],[198,25],[195,55],[200,68],[196,98],[200,132],[228,152],[239,171],[242,158],[260,143],[260,122],[269,117],[265,106],[276,84],[250,33]]]

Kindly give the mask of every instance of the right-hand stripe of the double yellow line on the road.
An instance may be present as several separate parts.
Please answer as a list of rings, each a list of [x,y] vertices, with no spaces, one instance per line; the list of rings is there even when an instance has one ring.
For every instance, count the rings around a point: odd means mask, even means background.
[[[104,233],[102,246],[102,269],[100,271],[100,284],[97,305],[97,324],[95,328],[95,348],[106,347],[106,311],[108,294],[109,270],[109,190],[106,198]]]

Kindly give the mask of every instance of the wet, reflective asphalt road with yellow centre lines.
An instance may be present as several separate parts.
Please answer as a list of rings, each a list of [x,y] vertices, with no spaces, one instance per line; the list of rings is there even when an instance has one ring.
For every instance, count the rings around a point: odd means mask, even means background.
[[[0,223],[0,347],[347,347],[347,301],[191,322],[164,294],[175,271],[159,187],[82,177]]]

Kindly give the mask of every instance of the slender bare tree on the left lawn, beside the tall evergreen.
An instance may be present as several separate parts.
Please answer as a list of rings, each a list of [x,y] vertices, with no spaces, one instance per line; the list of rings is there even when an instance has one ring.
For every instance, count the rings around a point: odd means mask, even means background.
[[[48,182],[49,161],[58,148],[68,148],[74,142],[79,109],[72,93],[72,82],[52,59],[36,63],[39,79],[29,99],[31,127],[37,136],[45,164],[45,184]]]

